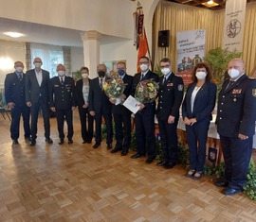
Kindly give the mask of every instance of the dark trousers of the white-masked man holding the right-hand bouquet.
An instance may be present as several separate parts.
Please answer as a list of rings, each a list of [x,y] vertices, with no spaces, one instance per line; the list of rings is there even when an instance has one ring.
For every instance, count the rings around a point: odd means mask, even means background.
[[[155,159],[155,114],[143,115],[137,112],[136,122],[136,144],[137,153],[148,154],[148,158]]]

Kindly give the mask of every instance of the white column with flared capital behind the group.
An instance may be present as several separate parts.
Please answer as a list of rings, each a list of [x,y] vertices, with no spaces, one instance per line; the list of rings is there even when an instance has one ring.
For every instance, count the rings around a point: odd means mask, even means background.
[[[100,63],[101,33],[91,30],[83,32],[81,37],[84,65],[89,68],[90,78],[98,77],[97,65]]]

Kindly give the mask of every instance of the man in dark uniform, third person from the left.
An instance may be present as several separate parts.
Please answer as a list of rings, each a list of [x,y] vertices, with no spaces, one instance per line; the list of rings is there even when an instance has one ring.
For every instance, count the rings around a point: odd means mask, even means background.
[[[59,145],[64,144],[64,120],[67,124],[68,144],[73,144],[73,111],[76,108],[75,83],[72,77],[65,76],[63,64],[57,66],[58,77],[50,79],[49,103],[51,111],[56,111]]]

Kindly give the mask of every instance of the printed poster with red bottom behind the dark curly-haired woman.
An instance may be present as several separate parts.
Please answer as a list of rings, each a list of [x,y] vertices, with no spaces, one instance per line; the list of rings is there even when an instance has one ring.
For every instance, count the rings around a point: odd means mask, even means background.
[[[184,85],[192,82],[192,69],[205,57],[204,29],[183,31],[176,33],[177,43],[177,75],[183,78]]]

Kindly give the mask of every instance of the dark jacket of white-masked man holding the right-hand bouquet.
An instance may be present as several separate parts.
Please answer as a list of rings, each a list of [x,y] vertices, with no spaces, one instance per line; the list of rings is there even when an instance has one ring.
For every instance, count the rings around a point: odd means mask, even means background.
[[[138,82],[140,81],[141,73],[137,73],[133,79],[133,86],[132,86],[132,95],[135,96],[136,92],[136,87]],[[159,82],[159,77],[157,74],[151,72],[150,70],[148,71],[147,75],[142,79],[154,79],[155,82]],[[155,101],[153,103],[145,103],[145,108],[141,111],[141,114],[147,115],[147,114],[155,114]]]

